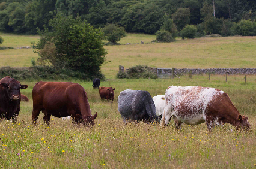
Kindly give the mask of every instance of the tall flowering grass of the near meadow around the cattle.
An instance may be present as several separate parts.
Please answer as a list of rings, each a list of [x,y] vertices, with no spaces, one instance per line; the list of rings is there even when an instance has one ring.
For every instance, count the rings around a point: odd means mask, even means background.
[[[223,79],[223,80],[222,80]],[[71,120],[52,117],[32,126],[32,87],[22,90],[30,102],[22,102],[15,124],[0,122],[1,168],[254,168],[256,152],[256,76],[181,76],[181,79],[121,79],[102,82],[115,87],[114,102],[101,101],[92,82],[80,83],[86,90],[92,114],[98,113],[93,129],[74,126]],[[251,132],[236,131],[225,124],[212,132],[206,124],[182,126],[128,123],[118,112],[117,98],[127,88],[148,90],[151,96],[165,93],[169,85],[207,86],[224,90],[239,112],[249,117]]]

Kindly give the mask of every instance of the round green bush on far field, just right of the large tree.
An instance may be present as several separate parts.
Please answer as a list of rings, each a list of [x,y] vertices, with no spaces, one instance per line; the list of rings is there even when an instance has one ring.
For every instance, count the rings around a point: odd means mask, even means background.
[[[112,43],[117,43],[121,38],[126,37],[126,31],[124,28],[121,28],[114,24],[109,24],[103,28],[104,35],[106,40],[111,41]]]

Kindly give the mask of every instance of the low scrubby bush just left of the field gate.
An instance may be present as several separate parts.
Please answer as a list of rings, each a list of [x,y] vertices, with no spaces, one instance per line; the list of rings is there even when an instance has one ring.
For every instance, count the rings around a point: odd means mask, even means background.
[[[151,68],[145,65],[136,65],[135,67],[129,68],[127,74],[130,79],[156,79],[156,73],[151,71]]]

